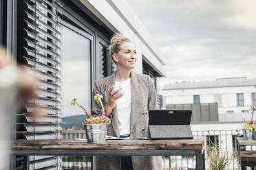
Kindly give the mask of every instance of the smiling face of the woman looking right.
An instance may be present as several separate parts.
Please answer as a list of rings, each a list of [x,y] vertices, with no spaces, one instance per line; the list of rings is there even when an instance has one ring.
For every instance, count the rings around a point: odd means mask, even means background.
[[[134,69],[137,61],[135,45],[131,42],[122,43],[118,53],[113,54],[113,60],[122,69]]]

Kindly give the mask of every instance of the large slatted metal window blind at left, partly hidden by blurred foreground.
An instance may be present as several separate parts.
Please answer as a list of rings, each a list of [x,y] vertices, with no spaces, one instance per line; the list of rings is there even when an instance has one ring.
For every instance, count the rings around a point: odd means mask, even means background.
[[[17,139],[61,139],[62,58],[58,1],[18,1],[18,63],[38,77],[36,97],[17,111]],[[43,117],[30,113],[38,106]],[[19,157],[17,157],[19,162]],[[19,169],[17,163],[17,169]],[[30,169],[61,169],[58,156],[30,156]]]

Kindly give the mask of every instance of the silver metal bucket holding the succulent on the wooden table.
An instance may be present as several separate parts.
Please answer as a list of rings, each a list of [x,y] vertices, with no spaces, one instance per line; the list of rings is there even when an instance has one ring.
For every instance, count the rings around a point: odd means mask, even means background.
[[[110,123],[84,125],[87,142],[105,143],[107,127],[109,124]]]

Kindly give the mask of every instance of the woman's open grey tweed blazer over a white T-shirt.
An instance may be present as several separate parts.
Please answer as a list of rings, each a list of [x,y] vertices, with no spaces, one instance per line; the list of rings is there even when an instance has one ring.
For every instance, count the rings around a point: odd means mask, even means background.
[[[107,90],[114,86],[116,73],[109,77],[98,80],[94,84],[93,95],[103,95],[104,106],[109,101]],[[131,138],[148,137],[149,110],[157,109],[156,90],[149,75],[142,75],[131,71]],[[100,105],[92,101],[93,116],[100,115]],[[107,130],[109,136],[119,136],[118,112],[116,107],[110,116],[111,124]],[[153,158],[154,157],[154,158]],[[134,170],[162,169],[159,156],[132,156]],[[99,156],[97,169],[121,169],[120,156]]]

